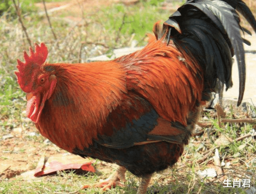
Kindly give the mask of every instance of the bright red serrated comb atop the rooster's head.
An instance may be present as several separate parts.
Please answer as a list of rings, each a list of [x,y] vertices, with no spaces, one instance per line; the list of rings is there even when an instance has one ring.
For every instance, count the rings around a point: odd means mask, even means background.
[[[31,92],[34,72],[40,69],[48,55],[48,50],[44,43],[40,45],[35,43],[34,45],[35,52],[33,52],[31,47],[29,47],[29,55],[26,51],[23,51],[24,63],[17,59],[18,65],[16,67],[18,71],[15,74],[18,78],[20,88],[24,92]]]

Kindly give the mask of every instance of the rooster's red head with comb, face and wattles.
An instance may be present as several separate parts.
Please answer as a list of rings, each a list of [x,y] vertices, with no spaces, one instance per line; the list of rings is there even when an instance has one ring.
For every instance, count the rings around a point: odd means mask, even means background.
[[[38,122],[44,108],[45,100],[49,99],[56,86],[56,76],[44,71],[45,60],[48,55],[44,43],[35,43],[35,52],[29,47],[29,55],[23,51],[25,62],[17,59],[18,71],[15,72],[20,88],[27,93],[27,117]]]

